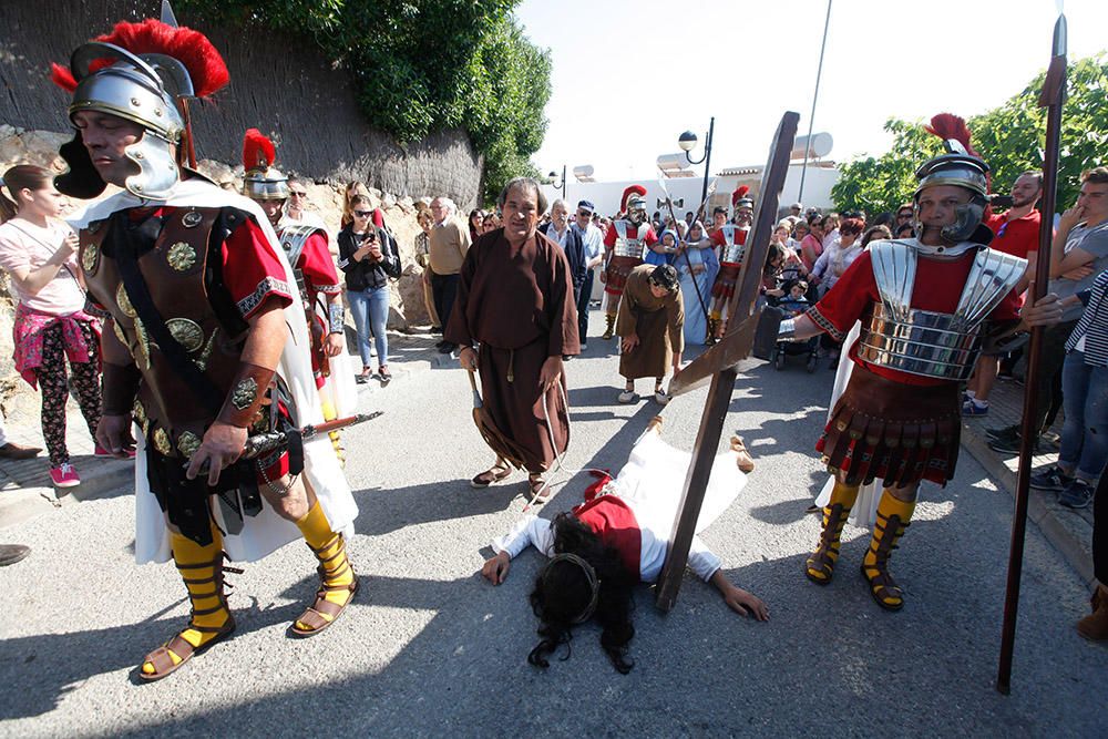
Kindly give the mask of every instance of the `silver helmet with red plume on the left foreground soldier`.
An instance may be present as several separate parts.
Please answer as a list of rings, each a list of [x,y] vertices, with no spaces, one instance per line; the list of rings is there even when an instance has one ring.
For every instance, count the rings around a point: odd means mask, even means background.
[[[142,138],[124,152],[138,172],[122,184],[155,201],[168,195],[179,178],[178,166],[192,153],[188,99],[207,97],[229,80],[219,52],[203,33],[154,19],[117,23],[111,33],[79,47],[68,70],[53,64],[51,78],[73,93],[70,119],[95,111],[142,126]],[[60,191],[81,198],[104,191],[80,131],[61,154],[70,171],[58,177]]]

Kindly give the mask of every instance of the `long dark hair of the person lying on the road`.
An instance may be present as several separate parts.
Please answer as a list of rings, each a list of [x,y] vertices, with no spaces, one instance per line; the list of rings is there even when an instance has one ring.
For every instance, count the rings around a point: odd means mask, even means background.
[[[605,546],[599,536],[572,513],[560,513],[551,526],[554,528],[554,553],[576,554],[596,572],[599,595],[593,616],[603,628],[601,646],[612,665],[626,675],[635,666],[627,658],[627,644],[635,636],[630,623],[632,588],[638,582],[638,573],[627,572],[619,553]],[[542,640],[527,655],[527,661],[535,667],[550,667],[546,657],[562,645],[566,648],[562,659],[568,659],[571,629],[591,599],[592,586],[578,565],[562,561],[544,567],[531,593],[531,608],[542,622],[538,627]]]

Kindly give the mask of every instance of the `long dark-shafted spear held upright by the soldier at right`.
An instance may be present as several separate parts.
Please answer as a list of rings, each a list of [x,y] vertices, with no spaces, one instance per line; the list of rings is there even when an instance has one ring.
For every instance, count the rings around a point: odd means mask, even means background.
[[[1050,66],[1039,94],[1039,107],[1047,109],[1046,146],[1043,156],[1043,223],[1039,226],[1039,249],[1035,265],[1035,285],[1028,305],[1046,295],[1050,280],[1050,243],[1054,238],[1054,212],[1058,197],[1058,157],[1061,146],[1061,106],[1066,100],[1066,16],[1058,13],[1054,24],[1054,50]],[[1012,655],[1016,643],[1016,615],[1019,608],[1019,577],[1024,565],[1024,536],[1027,532],[1027,495],[1032,473],[1032,450],[1039,430],[1034,428],[1043,401],[1036,397],[1036,377],[1043,356],[1043,327],[1032,329],[1027,349],[1027,378],[1024,386],[1024,419],[1019,429],[1019,471],[1016,476],[1016,505],[1012,515],[1012,546],[1008,551],[1008,583],[1004,596],[1004,626],[1001,630],[1001,661],[996,689],[1008,695],[1012,690]]]

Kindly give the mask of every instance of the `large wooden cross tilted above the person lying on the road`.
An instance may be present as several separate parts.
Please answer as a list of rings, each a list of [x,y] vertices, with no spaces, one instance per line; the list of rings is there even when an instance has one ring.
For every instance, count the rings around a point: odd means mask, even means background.
[[[797,137],[799,122],[800,114],[789,111],[781,117],[781,123],[777,127],[777,135],[769,152],[769,162],[762,173],[759,191],[761,196],[758,212],[755,214],[753,230],[747,240],[747,250],[742,258],[738,289],[728,305],[727,333],[716,346],[683,369],[669,386],[669,393],[678,396],[711,378],[708,400],[700,415],[700,430],[697,431],[696,444],[693,447],[693,464],[689,466],[685,478],[685,490],[681,492],[680,515],[669,536],[669,554],[658,578],[655,603],[661,610],[669,610],[677,602],[677,592],[685,576],[689,547],[696,533],[696,522],[700,516],[705,491],[708,489],[708,476],[711,474],[716,448],[719,445],[727,409],[731,404],[731,392],[735,390],[735,378],[738,376],[736,365],[749,356],[753,343],[755,328],[758,325],[758,314],[755,309],[761,287],[762,268],[769,254],[770,235],[777,226],[777,208],[784,187],[784,177],[789,171],[789,153]]]

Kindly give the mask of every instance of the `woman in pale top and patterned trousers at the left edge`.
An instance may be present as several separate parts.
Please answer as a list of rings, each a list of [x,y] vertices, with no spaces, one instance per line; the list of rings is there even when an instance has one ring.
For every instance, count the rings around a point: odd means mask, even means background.
[[[78,237],[58,219],[62,195],[54,188],[53,173],[21,164],[8,170],[2,183],[11,199],[0,191],[0,267],[11,279],[16,298],[16,371],[42,392],[50,480],[57,487],[72,487],[81,484],[81,478],[65,447],[65,402],[72,383],[95,439],[101,404],[100,321],[84,311]],[[99,445],[95,453],[111,456]]]

